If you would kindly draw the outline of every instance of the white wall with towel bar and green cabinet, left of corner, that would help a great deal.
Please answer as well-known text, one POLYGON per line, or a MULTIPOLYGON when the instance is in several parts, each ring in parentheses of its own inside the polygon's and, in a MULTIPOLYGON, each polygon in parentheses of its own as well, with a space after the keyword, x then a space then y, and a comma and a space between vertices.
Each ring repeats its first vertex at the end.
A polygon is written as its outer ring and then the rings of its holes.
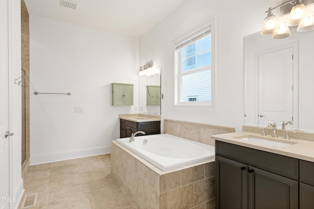
POLYGON ((138 106, 138 39, 29 18, 30 164, 109 153, 118 115, 138 106), (112 82, 134 84, 134 106, 111 105, 112 82))

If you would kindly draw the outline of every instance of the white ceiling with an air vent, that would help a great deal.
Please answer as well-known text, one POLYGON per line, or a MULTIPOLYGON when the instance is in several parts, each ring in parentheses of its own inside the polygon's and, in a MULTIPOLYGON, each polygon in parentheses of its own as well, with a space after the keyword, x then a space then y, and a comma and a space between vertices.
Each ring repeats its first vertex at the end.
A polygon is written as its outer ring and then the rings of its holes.
POLYGON ((75 0, 76 9, 60 0, 25 0, 28 13, 47 19, 141 37, 185 0, 75 0))

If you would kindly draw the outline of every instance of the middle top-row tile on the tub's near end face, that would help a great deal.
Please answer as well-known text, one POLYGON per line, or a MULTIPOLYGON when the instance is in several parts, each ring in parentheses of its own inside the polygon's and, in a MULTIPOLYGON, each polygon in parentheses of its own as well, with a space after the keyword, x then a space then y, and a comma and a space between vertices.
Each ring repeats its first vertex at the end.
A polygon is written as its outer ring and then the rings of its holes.
POLYGON ((193 183, 204 179, 204 164, 186 168, 181 171, 181 185, 193 183))

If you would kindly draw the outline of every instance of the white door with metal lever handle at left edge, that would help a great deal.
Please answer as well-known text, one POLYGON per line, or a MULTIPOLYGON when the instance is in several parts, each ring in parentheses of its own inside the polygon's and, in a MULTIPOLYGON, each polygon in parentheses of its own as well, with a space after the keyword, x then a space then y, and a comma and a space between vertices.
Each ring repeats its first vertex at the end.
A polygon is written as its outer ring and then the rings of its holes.
POLYGON ((0 1, 0 209, 9 208, 8 5, 0 1))

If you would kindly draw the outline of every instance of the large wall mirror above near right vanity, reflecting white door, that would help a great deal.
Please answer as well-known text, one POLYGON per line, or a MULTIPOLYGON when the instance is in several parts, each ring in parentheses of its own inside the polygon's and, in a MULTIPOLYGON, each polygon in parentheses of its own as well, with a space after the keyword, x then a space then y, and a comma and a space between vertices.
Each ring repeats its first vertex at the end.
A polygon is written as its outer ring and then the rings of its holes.
POLYGON ((244 37, 244 124, 314 132, 314 31, 244 37))

